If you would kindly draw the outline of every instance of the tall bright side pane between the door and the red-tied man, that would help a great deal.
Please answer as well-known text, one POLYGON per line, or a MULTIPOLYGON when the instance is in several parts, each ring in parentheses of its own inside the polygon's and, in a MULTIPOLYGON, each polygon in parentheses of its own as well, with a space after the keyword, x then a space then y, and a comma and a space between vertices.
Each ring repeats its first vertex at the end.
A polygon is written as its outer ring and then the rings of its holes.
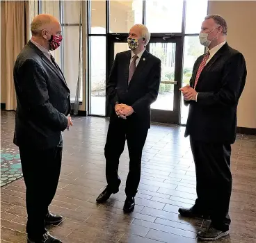
MULTIPOLYGON (((199 42, 198 36, 186 36, 184 39, 184 64, 183 64, 183 78, 182 87, 189 84, 192 76, 193 65, 198 56, 205 52, 205 47, 199 42)), ((186 119, 189 114, 189 106, 184 106, 182 100, 181 123, 186 124, 186 119)))

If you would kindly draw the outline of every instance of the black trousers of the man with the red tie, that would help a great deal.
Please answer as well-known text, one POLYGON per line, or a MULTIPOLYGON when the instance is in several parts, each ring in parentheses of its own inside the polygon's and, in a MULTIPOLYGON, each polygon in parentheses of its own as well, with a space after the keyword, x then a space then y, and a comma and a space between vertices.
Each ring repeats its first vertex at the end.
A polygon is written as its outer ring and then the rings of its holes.
POLYGON ((214 228, 227 231, 231 222, 228 215, 232 192, 231 145, 195 141, 193 137, 190 142, 198 194, 195 208, 209 213, 214 228))

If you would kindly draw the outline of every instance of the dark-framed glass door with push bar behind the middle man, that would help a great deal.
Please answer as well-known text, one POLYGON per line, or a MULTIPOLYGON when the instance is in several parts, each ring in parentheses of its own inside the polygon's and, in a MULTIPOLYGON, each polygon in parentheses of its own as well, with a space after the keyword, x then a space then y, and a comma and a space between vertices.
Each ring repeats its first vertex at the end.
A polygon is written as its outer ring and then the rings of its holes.
MULTIPOLYGON (((161 60, 161 84, 157 101, 151 105, 151 121, 179 124, 180 93, 182 85, 182 41, 181 37, 152 37, 147 51, 161 60)), ((108 61, 106 70, 111 70, 116 53, 127 51, 127 35, 115 34, 108 37, 108 61)), ((109 115, 106 103, 106 114, 109 115)))

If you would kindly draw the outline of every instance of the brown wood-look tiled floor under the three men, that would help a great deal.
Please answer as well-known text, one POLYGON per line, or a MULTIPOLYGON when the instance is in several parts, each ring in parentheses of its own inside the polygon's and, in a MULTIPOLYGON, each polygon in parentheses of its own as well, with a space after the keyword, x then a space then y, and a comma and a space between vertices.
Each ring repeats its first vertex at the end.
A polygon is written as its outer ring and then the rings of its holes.
MULTIPOLYGON (((13 129, 13 119, 10 118, 8 126, 13 129)), ((106 185, 107 128, 107 119, 78 117, 71 131, 65 132, 61 180, 51 211, 61 213, 66 219, 61 226, 50 228, 53 235, 72 243, 197 242, 196 231, 208 222, 184 219, 177 213, 179 206, 193 205, 196 197, 195 170, 184 128, 154 124, 150 129, 136 208, 130 215, 122 212, 129 162, 127 149, 120 160, 120 192, 106 205, 95 204, 106 185)), ((12 136, 12 129, 5 131, 12 136)), ((231 233, 218 242, 253 243, 256 242, 256 137, 239 135, 232 148, 231 233)), ((26 242, 24 192, 22 179, 1 188, 1 242, 26 242)))

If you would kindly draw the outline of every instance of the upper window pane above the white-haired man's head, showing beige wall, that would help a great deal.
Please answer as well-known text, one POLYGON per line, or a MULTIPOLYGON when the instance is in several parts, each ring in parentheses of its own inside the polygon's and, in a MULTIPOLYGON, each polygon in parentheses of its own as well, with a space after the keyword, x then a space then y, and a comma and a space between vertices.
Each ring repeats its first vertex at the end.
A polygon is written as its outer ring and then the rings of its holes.
POLYGON ((142 23, 143 1, 109 1, 109 32, 129 33, 131 26, 142 23))

